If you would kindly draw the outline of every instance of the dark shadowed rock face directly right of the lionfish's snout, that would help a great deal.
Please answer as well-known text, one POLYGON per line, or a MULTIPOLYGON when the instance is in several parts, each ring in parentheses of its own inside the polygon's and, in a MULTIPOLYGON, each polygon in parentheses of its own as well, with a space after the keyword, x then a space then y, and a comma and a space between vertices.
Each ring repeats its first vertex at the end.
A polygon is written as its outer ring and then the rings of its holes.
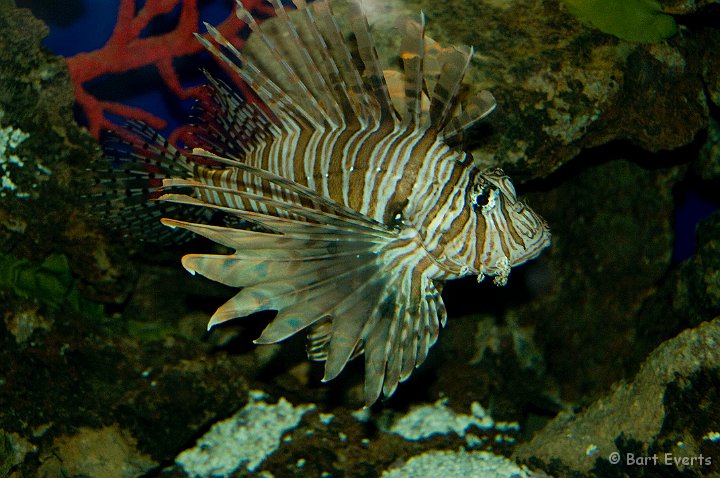
POLYGON ((563 399, 582 401, 637 370, 642 356, 627 351, 635 314, 670 267, 678 173, 615 160, 532 201, 552 224, 553 245, 537 262, 550 287, 514 314, 534 327, 563 399))

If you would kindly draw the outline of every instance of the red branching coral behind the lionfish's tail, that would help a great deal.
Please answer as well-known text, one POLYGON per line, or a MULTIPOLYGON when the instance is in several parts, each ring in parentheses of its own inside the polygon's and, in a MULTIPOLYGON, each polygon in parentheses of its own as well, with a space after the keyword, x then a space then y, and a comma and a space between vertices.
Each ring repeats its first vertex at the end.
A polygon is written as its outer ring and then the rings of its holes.
MULTIPOLYGON (((248 10, 270 13, 269 5, 263 0, 244 0, 243 3, 248 10)), ((141 108, 96 98, 86 89, 87 83, 95 78, 154 65, 165 86, 178 98, 201 96, 201 88, 182 86, 173 66, 174 59, 202 50, 202 46, 193 37, 193 33, 200 27, 198 0, 147 0, 137 13, 135 10, 135 0, 120 0, 117 23, 105 46, 91 52, 78 53, 67 59, 70 77, 75 85, 76 101, 87 117, 88 129, 96 138, 103 129, 117 129, 117 125, 106 113, 141 120, 157 129, 164 128, 166 122, 141 108), (178 6, 179 19, 172 31, 149 37, 141 36, 153 19, 171 13, 178 6)), ((234 10, 215 27, 240 48, 243 43, 240 31, 244 23, 235 16, 234 10)), ((239 81, 238 87, 244 89, 239 81)))

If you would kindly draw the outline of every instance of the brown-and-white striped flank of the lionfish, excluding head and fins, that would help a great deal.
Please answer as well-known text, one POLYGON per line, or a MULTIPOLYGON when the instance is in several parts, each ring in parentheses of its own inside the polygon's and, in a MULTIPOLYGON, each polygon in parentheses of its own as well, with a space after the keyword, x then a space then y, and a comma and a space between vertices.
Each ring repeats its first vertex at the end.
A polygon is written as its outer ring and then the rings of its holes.
MULTIPOLYGON (((461 164, 463 153, 433 136, 401 127, 307 129, 296 135, 278 134, 243 161, 306 186, 378 223, 399 223, 397 216, 402 215, 404 225, 425 230, 424 220, 436 216, 439 209, 427 198, 447 197, 450 188, 464 189, 461 183, 467 183, 472 173, 461 164)), ((209 184, 241 187, 256 194, 269 186, 254 184, 252 172, 234 168, 198 169, 195 176, 209 184)), ((257 210, 256 203, 237 202, 232 194, 207 199, 257 210)))

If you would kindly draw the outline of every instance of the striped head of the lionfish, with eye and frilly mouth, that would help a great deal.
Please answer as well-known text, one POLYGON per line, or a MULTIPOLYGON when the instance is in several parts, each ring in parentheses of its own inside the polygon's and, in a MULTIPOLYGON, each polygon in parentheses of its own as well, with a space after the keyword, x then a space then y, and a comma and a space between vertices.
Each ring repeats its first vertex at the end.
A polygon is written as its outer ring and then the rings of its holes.
POLYGON ((501 169, 479 172, 468 187, 469 207, 476 216, 478 280, 495 276, 504 285, 510 268, 536 258, 550 245, 543 218, 518 199, 510 178, 501 169))

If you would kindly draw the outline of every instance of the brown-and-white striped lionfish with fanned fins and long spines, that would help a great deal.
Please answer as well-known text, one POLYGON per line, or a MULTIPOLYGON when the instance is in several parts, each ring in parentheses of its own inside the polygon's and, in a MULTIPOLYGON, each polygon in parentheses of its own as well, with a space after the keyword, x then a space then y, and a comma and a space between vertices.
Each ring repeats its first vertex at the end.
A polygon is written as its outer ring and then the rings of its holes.
POLYGON ((307 331, 323 381, 364 354, 370 405, 425 360, 446 322, 445 281, 505 285, 550 233, 501 170, 480 171, 453 146, 496 105, 486 91, 459 104, 472 48, 440 47, 420 15, 400 25, 402 71, 383 71, 362 6, 346 6, 345 35, 326 0, 293 0, 294 10, 270 3, 276 16, 260 25, 237 1, 251 29, 242 51, 210 25, 210 40, 196 35, 262 104, 208 75, 202 147, 181 152, 131 123, 139 139, 111 154, 113 171, 99 183, 125 172, 127 197, 107 199, 108 209, 138 208, 129 199, 150 190, 160 204, 233 218, 161 220, 235 251, 182 258, 190 273, 241 288, 208 329, 275 310, 255 343, 307 331))

